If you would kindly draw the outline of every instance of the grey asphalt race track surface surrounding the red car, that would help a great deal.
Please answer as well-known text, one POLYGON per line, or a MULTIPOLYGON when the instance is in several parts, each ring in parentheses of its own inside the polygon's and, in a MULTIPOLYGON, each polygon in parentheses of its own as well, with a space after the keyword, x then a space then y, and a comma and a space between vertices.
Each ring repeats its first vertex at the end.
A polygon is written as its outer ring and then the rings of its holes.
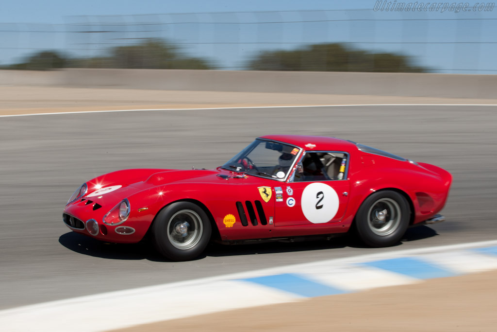
POLYGON ((0 309, 294 263, 496 239, 497 107, 364 106, 133 111, 0 118, 0 309), (264 134, 335 136, 432 163, 454 177, 447 221, 402 244, 211 245, 170 262, 147 243, 105 244, 62 222, 84 181, 125 168, 214 168, 264 134))

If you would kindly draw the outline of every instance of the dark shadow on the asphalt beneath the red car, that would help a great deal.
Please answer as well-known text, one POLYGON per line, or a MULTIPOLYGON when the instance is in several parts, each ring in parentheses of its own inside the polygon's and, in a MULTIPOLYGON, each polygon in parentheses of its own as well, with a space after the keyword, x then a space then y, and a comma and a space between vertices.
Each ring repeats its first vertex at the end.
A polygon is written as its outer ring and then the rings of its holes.
MULTIPOLYGON (((403 242, 415 241, 438 235, 435 230, 427 226, 409 228, 404 235, 403 242)), ((399 242, 397 245, 402 245, 399 242)), ((106 243, 93 238, 68 232, 59 237, 59 243, 75 252, 107 259, 140 260, 147 259, 156 262, 170 262, 161 256, 150 243, 143 241, 133 244, 106 243)), ((225 245, 211 243, 207 246, 204 254, 196 259, 239 255, 256 255, 267 253, 298 252, 325 250, 336 248, 368 248, 354 234, 331 238, 330 240, 308 240, 308 241, 278 241, 278 242, 253 242, 249 244, 225 245)))

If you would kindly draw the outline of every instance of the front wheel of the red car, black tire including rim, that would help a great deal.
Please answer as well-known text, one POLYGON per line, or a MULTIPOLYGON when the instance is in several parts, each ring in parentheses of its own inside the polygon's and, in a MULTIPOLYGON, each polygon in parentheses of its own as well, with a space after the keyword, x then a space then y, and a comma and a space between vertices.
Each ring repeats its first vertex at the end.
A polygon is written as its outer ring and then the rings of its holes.
POLYGON ((157 251, 174 261, 198 257, 209 243, 211 232, 211 223, 204 210, 190 202, 167 206, 152 225, 157 251))

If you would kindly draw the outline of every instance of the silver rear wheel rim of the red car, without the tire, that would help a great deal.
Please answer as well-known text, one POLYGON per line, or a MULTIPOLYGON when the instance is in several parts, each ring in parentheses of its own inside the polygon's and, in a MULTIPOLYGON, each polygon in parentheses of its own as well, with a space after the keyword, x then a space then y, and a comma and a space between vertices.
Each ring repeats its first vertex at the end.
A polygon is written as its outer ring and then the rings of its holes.
POLYGON ((399 227, 401 217, 401 208, 396 201, 381 198, 369 208, 368 226, 376 235, 390 235, 399 227))

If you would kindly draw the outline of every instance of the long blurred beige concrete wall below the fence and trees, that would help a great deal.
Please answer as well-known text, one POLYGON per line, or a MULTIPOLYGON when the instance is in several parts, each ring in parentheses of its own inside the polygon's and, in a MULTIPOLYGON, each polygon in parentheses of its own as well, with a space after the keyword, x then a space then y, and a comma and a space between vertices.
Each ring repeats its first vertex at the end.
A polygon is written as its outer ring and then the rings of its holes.
POLYGON ((310 93, 443 98, 497 98, 497 75, 66 69, 7 72, 11 84, 123 89, 310 93), (32 75, 32 76, 30 76, 32 75), (44 81, 40 77, 46 75, 44 81), (29 83, 29 80, 32 83, 29 83))

